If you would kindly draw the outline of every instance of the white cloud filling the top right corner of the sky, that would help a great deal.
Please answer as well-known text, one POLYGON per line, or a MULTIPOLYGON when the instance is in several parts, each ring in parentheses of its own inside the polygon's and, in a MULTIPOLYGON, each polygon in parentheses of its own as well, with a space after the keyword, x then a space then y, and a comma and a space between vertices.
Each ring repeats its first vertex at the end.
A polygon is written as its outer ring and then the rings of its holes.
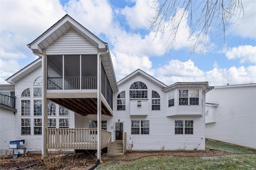
POLYGON ((236 23, 231 27, 231 34, 235 33, 241 37, 256 40, 256 2, 254 0, 242 0, 242 4, 244 18, 242 20, 234 20, 236 23))

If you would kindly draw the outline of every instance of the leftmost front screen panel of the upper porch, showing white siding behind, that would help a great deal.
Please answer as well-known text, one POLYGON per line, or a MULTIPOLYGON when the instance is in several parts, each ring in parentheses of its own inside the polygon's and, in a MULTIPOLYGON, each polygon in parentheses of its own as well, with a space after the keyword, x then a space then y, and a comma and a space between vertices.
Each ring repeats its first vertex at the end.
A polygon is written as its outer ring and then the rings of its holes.
POLYGON ((62 55, 47 55, 47 89, 63 89, 62 55))

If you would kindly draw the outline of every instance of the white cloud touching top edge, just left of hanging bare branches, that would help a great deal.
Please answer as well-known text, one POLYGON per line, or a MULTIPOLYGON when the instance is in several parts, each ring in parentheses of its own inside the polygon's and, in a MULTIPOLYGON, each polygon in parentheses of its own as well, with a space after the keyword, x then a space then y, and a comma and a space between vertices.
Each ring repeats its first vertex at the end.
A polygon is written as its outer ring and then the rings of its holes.
POLYGON ((148 28, 148 20, 154 16, 154 10, 151 9, 151 0, 137 0, 136 5, 126 6, 121 10, 121 14, 126 16, 126 20, 132 29, 148 28))

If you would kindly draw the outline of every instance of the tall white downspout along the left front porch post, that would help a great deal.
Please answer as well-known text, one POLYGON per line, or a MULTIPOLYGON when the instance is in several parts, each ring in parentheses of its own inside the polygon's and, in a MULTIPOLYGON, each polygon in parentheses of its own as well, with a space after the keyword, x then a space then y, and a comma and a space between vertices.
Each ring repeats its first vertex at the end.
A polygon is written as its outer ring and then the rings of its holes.
POLYGON ((42 155, 44 155, 44 154, 47 154, 47 152, 45 152, 45 140, 44 140, 44 138, 45 138, 45 136, 44 136, 44 134, 45 134, 45 124, 46 123, 44 123, 45 121, 47 122, 47 119, 45 120, 44 119, 44 104, 45 104, 45 102, 44 102, 44 97, 45 97, 45 93, 44 93, 44 74, 45 74, 45 70, 44 70, 44 60, 45 60, 45 58, 44 58, 44 55, 41 55, 41 54, 38 54, 38 53, 35 53, 34 51, 32 51, 33 52, 33 54, 34 55, 37 55, 38 57, 40 57, 41 59, 42 59, 42 155))

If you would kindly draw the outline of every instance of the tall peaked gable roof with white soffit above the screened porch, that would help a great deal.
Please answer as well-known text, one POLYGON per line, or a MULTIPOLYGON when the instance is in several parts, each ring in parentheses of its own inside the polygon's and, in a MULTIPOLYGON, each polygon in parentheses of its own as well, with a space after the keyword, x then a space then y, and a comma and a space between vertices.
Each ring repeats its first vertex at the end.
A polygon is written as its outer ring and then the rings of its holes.
POLYGON ((27 46, 35 53, 42 54, 42 49, 47 48, 52 43, 54 43, 58 38, 68 32, 70 29, 74 29, 78 34, 88 40, 90 43, 95 45, 101 51, 106 51, 106 43, 92 34, 89 30, 84 28, 76 20, 66 14, 48 30, 46 30, 42 35, 40 35, 36 40, 27 44, 27 46))

